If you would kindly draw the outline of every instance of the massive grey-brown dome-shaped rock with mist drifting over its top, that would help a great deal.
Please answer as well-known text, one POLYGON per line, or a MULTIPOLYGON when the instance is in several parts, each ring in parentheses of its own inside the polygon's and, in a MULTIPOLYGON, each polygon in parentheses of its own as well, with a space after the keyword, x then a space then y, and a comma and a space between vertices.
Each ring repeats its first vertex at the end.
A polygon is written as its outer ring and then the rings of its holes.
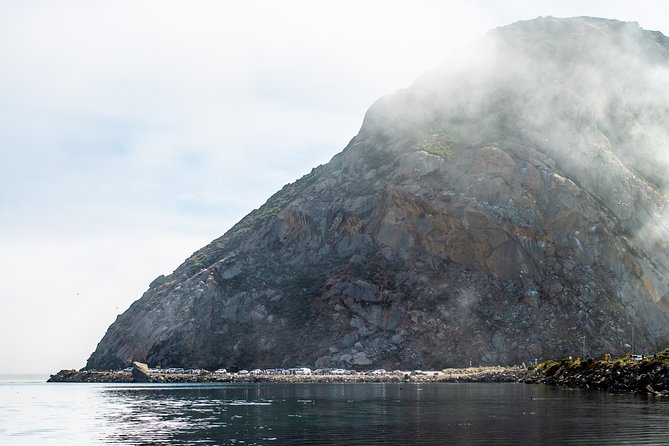
POLYGON ((432 368, 659 350, 669 40, 544 18, 379 100, 186 260, 87 367, 432 368))

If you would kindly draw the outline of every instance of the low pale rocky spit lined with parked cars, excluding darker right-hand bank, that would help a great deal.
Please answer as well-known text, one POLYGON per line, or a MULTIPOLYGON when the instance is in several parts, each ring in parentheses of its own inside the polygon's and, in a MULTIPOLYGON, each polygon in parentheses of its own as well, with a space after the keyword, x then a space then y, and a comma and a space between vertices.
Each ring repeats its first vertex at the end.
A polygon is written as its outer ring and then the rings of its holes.
POLYGON ((141 367, 132 371, 61 370, 51 383, 372 383, 372 382, 524 382, 528 371, 521 367, 470 367, 430 372, 402 372, 351 375, 270 375, 237 373, 165 374, 141 367))

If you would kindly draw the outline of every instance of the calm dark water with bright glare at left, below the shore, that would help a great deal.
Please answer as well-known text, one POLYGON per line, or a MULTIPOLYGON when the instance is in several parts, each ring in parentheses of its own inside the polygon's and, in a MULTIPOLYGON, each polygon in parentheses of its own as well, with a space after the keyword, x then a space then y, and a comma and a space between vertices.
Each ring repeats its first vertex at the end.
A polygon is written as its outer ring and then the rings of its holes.
POLYGON ((0 445, 669 444, 669 399, 526 384, 0 382, 0 445))

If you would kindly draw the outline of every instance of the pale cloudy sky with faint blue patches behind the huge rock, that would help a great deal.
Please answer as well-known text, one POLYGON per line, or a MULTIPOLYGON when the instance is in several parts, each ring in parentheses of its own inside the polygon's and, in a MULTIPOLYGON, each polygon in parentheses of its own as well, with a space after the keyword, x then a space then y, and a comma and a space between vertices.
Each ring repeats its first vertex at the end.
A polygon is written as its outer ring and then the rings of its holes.
POLYGON ((0 0, 0 373, 80 368, 158 275, 517 20, 665 1, 0 0))

